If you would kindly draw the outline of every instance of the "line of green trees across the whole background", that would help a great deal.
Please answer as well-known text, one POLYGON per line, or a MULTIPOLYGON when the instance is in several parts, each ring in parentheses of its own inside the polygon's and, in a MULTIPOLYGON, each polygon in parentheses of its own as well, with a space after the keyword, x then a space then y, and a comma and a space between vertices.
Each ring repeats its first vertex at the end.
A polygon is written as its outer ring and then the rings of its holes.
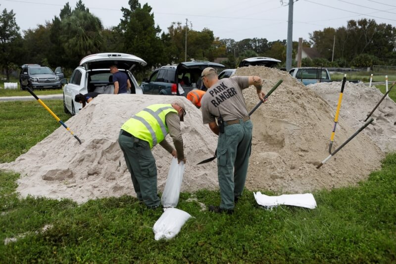
MULTIPOLYGON (((188 61, 213 61, 222 57, 221 63, 230 68, 252 56, 280 59, 281 67, 286 62, 286 40, 219 39, 208 28, 196 31, 181 22, 173 22, 165 32, 155 26, 154 13, 147 3, 142 6, 139 0, 129 0, 128 4, 127 8, 121 8, 120 23, 105 29, 82 0, 74 8, 67 2, 52 21, 24 31, 23 37, 13 10, 3 9, 0 14, 0 67, 9 79, 8 72, 24 63, 71 70, 86 55, 119 52, 146 60, 148 67, 137 69, 144 72, 185 61, 186 32, 188 61)), ((303 47, 316 48, 322 57, 303 59, 302 66, 396 65, 396 28, 390 24, 377 24, 371 19, 349 20, 346 27, 325 28, 309 36, 309 40, 303 40, 303 47)), ((298 43, 294 42, 293 58, 297 49, 298 43)), ((296 61, 293 64, 296 65, 296 61)))

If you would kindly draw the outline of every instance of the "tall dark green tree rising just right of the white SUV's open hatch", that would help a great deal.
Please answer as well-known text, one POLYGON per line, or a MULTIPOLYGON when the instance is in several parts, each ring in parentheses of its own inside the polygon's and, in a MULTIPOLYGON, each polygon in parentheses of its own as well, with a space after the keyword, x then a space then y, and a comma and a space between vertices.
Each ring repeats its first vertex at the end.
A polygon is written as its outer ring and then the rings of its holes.
POLYGON ((148 67, 161 64, 163 44, 159 38, 161 29, 155 26, 152 8, 146 3, 141 6, 138 0, 129 0, 129 9, 121 8, 123 18, 118 25, 122 34, 124 51, 146 60, 148 67))

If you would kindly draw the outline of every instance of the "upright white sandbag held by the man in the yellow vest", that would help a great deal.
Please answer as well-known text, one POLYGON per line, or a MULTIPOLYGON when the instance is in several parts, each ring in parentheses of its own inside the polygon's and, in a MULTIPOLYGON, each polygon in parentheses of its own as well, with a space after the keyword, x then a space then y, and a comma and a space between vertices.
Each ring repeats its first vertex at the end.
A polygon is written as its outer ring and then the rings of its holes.
POLYGON ((183 161, 178 163, 177 158, 172 158, 168 178, 166 178, 164 192, 161 197, 163 207, 176 207, 179 203, 179 195, 182 187, 185 166, 186 165, 183 161))

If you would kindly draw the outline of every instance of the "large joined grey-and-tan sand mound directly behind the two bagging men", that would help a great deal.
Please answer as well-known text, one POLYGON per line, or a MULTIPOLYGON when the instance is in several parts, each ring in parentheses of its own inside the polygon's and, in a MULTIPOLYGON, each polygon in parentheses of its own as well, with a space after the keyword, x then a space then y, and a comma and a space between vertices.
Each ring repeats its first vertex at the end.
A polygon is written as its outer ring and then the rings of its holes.
MULTIPOLYGON (((380 166, 383 153, 361 133, 320 169, 313 163, 326 158, 334 110, 311 89, 287 72, 261 66, 243 67, 238 75, 258 75, 269 91, 284 82, 251 116, 253 145, 247 177, 249 190, 278 193, 304 192, 356 184, 380 166)), ((254 88, 245 90, 247 108, 258 103, 254 88)), ((152 95, 101 95, 67 125, 82 145, 60 127, 15 161, 0 168, 21 173, 17 191, 22 196, 70 198, 77 202, 108 196, 135 195, 130 174, 118 146, 122 123, 143 107, 170 103, 174 97, 152 95), (121 165, 119 165, 121 163, 121 165)), ((182 98, 186 100, 185 98, 182 98)), ((182 191, 217 189, 216 161, 196 165, 212 157, 217 136, 202 125, 201 113, 185 101, 182 123, 187 157, 182 191)), ((49 117, 50 118, 50 117, 49 117)), ((335 148, 355 132, 340 118, 335 148)), ((169 137, 167 140, 170 141, 169 137)), ((158 189, 163 190, 171 156, 160 146, 153 148, 158 167, 158 189)))

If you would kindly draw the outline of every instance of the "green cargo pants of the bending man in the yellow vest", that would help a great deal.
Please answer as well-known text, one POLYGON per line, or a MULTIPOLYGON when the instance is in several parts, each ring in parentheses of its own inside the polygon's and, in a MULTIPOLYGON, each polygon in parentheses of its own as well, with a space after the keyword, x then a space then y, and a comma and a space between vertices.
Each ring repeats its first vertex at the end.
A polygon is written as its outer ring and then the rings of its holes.
POLYGON ((118 144, 124 153, 125 162, 131 173, 133 187, 139 201, 153 208, 159 206, 157 194, 157 166, 147 141, 120 132, 118 144))

